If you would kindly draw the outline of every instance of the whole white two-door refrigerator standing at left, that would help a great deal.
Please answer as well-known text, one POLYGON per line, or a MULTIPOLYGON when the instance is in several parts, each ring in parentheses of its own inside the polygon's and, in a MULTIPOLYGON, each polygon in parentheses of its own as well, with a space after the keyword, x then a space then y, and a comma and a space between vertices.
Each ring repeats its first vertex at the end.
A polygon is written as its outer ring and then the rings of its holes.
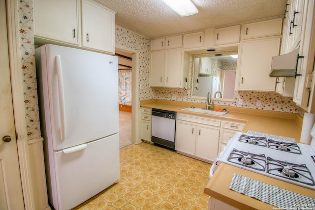
POLYGON ((49 202, 72 209, 119 180, 118 59, 35 50, 49 202))

